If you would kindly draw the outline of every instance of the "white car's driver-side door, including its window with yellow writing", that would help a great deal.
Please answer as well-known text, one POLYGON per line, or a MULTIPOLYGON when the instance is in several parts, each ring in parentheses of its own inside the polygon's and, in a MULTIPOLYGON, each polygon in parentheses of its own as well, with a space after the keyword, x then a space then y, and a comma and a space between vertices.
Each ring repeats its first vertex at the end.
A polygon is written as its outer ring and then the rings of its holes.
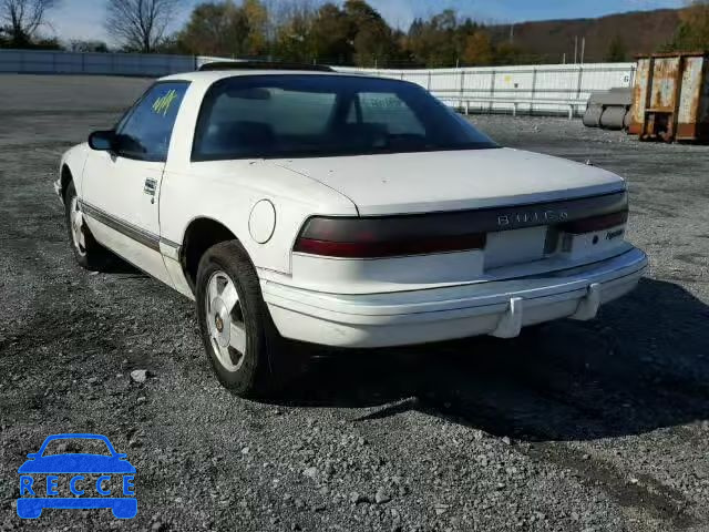
POLYGON ((95 238, 147 274, 171 284, 160 253, 160 187, 187 82, 158 82, 115 129, 109 151, 91 150, 80 191, 95 238))

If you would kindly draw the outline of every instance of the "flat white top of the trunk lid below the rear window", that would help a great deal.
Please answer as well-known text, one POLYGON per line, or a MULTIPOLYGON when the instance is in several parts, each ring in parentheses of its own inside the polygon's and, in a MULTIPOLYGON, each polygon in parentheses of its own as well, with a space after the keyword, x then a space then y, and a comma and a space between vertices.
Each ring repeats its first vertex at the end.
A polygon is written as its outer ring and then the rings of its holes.
POLYGON ((512 149, 274 163, 345 194, 362 216, 532 204, 624 188, 610 172, 512 149))

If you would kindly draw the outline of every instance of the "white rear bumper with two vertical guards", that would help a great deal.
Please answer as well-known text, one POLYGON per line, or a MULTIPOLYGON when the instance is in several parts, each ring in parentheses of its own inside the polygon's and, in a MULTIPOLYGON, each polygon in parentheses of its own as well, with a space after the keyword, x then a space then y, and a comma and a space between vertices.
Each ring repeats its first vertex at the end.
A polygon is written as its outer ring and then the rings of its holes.
POLYGON ((339 347, 424 344, 467 336, 517 336, 524 326, 572 317, 636 287, 647 267, 639 249, 590 265, 524 278, 417 291, 336 295, 261 282, 286 338, 339 347))

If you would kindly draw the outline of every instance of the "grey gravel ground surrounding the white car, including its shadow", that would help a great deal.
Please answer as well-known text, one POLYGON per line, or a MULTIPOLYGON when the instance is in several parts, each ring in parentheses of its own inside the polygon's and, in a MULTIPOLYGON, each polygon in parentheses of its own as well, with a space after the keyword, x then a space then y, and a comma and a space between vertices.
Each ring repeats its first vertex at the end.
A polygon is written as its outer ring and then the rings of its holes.
POLYGON ((145 83, 0 76, 0 530, 709 530, 708 147, 473 117, 626 176, 647 279, 533 338, 306 349, 319 358, 281 400, 248 402, 213 377, 192 303, 72 259, 59 156, 145 83), (18 519, 17 468, 58 432, 127 452, 134 520, 18 519))

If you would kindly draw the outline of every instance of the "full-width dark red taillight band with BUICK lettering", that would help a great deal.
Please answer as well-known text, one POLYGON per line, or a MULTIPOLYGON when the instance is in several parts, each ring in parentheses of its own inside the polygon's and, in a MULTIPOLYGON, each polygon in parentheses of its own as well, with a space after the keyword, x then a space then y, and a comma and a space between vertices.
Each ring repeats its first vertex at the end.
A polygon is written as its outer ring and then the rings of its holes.
POLYGON ((579 234, 626 223, 625 191, 520 206, 392 216, 314 216, 294 252, 326 257, 376 258, 483 249, 489 233, 554 226, 579 234))

